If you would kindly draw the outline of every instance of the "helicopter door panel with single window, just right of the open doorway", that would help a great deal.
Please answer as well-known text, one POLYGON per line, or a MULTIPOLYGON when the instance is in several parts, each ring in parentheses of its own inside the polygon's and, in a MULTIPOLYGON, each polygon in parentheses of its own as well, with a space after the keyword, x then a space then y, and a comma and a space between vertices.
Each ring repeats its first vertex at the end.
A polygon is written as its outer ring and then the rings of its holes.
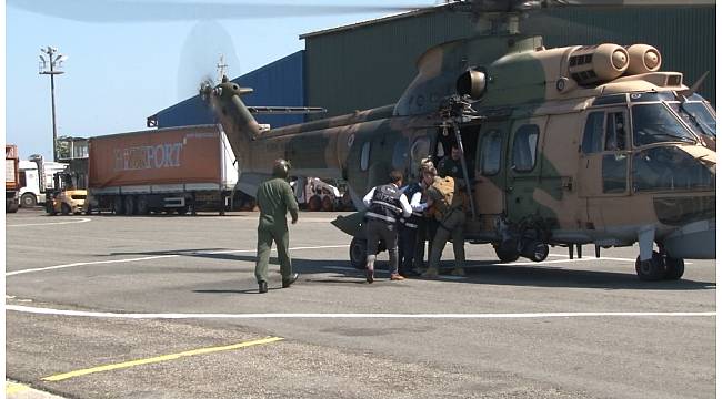
POLYGON ((541 171, 541 143, 548 116, 514 121, 507 145, 507 215, 520 223, 539 216, 541 205, 534 200, 541 171))

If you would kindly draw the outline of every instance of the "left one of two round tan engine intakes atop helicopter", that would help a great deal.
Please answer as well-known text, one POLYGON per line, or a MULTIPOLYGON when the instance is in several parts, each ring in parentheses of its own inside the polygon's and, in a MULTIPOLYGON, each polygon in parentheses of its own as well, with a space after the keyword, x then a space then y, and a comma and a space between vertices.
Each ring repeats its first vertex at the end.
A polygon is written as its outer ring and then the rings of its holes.
POLYGON ((582 47, 569 57, 569 73, 580 85, 612 81, 626 72, 630 54, 621 45, 582 47))

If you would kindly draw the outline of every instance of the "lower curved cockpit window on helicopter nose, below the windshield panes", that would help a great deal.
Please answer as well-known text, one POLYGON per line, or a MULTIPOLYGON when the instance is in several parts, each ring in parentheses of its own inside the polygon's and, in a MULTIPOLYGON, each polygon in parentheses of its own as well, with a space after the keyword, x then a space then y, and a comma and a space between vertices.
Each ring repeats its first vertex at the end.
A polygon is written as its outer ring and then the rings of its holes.
POLYGON ((645 191, 714 190, 709 167, 673 146, 658 146, 634 155, 633 187, 645 191))

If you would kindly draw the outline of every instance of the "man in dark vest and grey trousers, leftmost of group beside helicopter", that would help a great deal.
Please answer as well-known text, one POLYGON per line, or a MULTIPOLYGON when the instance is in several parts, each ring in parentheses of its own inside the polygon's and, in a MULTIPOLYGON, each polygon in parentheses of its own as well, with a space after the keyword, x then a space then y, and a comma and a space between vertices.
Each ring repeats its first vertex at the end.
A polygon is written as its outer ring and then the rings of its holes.
POLYGON ((367 282, 373 283, 373 264, 379 250, 379 241, 383 243, 389 250, 389 272, 392 280, 402 280, 403 276, 399 274, 398 259, 398 239, 399 239, 399 219, 403 215, 411 215, 411 206, 407 198, 401 195, 401 183, 403 174, 393 171, 389 175, 389 184, 383 184, 371 188, 363 197, 363 204, 367 206, 367 282))

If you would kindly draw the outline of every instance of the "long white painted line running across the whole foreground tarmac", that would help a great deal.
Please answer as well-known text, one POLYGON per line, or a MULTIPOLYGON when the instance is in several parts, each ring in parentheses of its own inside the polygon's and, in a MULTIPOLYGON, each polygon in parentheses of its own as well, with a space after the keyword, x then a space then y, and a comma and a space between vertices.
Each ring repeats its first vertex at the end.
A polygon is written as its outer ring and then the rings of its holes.
POLYGON ((353 319, 515 319, 559 317, 716 317, 716 311, 561 311, 518 314, 122 314, 108 311, 82 311, 6 305, 6 310, 52 316, 102 317, 123 319, 291 319, 291 318, 353 318, 353 319))

